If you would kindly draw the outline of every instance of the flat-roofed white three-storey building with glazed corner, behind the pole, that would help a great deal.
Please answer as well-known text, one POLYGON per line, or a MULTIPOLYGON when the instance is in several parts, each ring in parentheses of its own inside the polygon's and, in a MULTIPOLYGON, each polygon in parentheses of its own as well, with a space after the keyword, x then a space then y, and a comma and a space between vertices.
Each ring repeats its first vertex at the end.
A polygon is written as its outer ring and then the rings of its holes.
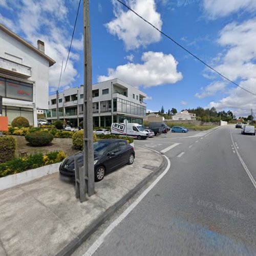
MULTIPOLYGON (((146 116, 146 94, 115 78, 93 84, 93 125, 110 126, 112 122, 142 124, 146 116)), ((77 126, 83 120, 83 86, 59 93, 59 118, 77 126)), ((56 120, 56 94, 49 96, 47 120, 56 120)))

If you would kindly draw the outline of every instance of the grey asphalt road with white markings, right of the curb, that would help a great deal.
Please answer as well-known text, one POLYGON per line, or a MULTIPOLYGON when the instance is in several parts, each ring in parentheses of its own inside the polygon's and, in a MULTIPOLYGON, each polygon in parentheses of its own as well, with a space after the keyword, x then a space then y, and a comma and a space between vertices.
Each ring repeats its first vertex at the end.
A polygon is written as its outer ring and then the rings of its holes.
POLYGON ((135 143, 163 152, 170 168, 74 255, 256 255, 256 136, 228 125, 135 143))

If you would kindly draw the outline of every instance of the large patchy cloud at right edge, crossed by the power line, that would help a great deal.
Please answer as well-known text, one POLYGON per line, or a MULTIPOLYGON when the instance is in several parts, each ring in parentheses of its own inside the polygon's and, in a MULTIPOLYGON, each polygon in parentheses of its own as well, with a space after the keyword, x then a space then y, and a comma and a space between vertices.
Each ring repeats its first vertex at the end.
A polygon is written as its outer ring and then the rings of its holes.
MULTIPOLYGON (((226 50, 219 55, 215 63, 215 69, 245 89, 256 93, 256 18, 246 20, 241 24, 230 23, 222 29, 218 44, 226 50)), ((226 81, 225 81, 226 83, 226 81)), ((210 102, 209 107, 215 106, 218 110, 233 109, 238 113, 248 112, 251 108, 256 109, 256 97, 248 92, 234 88, 229 83, 231 90, 225 89, 221 82, 207 86, 197 97, 214 95, 215 92, 224 92, 226 97, 219 101, 210 102)))

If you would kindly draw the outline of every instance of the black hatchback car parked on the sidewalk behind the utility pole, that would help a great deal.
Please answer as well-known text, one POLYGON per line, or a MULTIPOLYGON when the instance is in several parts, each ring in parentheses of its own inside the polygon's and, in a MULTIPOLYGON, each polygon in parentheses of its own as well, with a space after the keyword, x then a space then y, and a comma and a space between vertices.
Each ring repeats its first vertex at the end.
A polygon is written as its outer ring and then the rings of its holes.
MULTIPOLYGON (((134 148, 122 139, 104 139, 93 143, 95 181, 101 181, 105 174, 125 164, 133 164, 134 148)), ((75 179, 75 162, 83 165, 83 152, 67 157, 59 166, 60 177, 64 180, 75 179)))

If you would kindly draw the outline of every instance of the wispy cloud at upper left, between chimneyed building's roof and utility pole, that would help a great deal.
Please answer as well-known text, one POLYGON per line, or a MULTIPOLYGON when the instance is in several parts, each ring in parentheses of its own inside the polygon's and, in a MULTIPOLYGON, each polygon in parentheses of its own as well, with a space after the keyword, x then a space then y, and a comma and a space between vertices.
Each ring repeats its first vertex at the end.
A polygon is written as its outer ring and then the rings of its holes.
MULTIPOLYGON (((7 20, 5 25, 8 28, 13 30, 15 27, 16 32, 21 33, 24 39, 34 46, 37 39, 45 42, 46 54, 56 61, 49 71, 49 83, 53 88, 57 88, 61 63, 62 60, 64 65, 66 63, 73 29, 68 20, 65 0, 20 0, 12 1, 10 5, 13 9, 12 15, 15 17, 13 22, 10 23, 8 19, 1 16, 0 19, 5 18, 7 20)), ((66 71, 62 72, 61 87, 74 82, 78 75, 74 62, 79 59, 79 55, 74 51, 82 49, 82 36, 78 39, 74 38, 73 44, 66 71)))

